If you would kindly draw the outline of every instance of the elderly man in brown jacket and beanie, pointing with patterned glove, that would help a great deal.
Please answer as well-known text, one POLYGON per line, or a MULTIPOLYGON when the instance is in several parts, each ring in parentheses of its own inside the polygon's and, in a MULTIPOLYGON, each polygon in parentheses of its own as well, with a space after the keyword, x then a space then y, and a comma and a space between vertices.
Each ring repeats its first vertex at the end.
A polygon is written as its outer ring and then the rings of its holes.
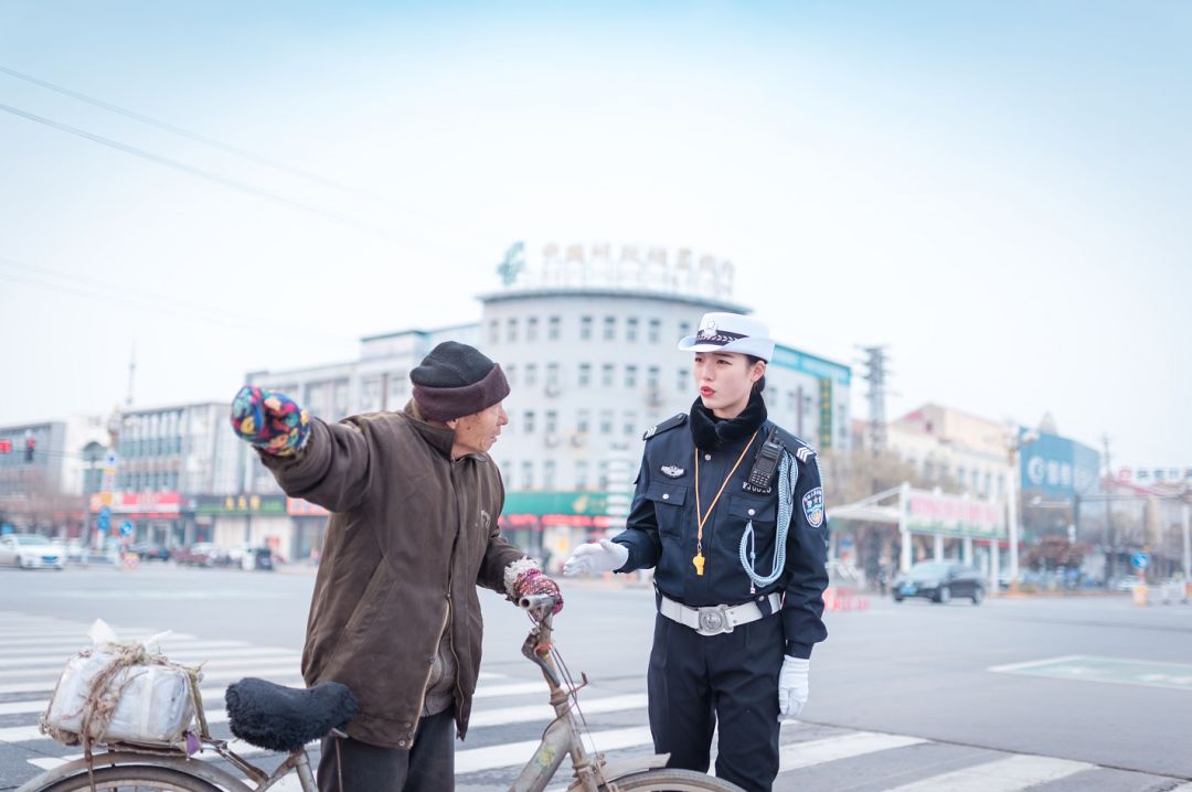
POLYGON ((559 595, 497 528, 504 487, 486 453, 509 423, 501 367, 448 341, 410 380, 402 412, 337 424, 255 387, 232 404, 237 435, 286 494, 331 512, 303 676, 347 685, 360 715, 348 738, 323 742, 324 792, 453 788, 480 666, 476 587, 559 595))

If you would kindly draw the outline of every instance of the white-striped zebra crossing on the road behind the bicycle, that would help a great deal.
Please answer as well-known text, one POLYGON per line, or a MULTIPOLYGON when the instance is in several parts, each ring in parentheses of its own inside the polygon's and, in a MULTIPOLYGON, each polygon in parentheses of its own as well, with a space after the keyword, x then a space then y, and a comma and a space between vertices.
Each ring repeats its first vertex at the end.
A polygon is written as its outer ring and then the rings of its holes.
MULTIPOLYGON (((86 646, 87 628, 81 623, 0 612, 0 790, 14 788, 39 772, 81 755, 77 747, 60 746, 42 735, 37 719, 66 660, 86 646)), ((122 640, 134 640, 149 637, 153 631, 117 628, 117 634, 122 640)), ((300 686, 300 651, 187 634, 167 637, 162 648, 173 660, 203 665, 200 693, 212 735, 230 740, 232 750, 254 763, 266 769, 275 767, 280 756, 231 738, 223 696, 226 685, 243 676, 300 686)), ((635 690, 626 690, 623 682, 602 687, 598 680, 583 690, 581 707, 590 749, 609 759, 653 753, 644 688, 641 679, 635 690)), ((552 717, 546 686, 529 663, 520 676, 483 672, 467 741, 457 744, 457 790, 508 788, 529 761, 552 717)), ((317 761, 317 746, 311 747, 311 754, 317 761)), ((210 755, 203 757, 217 760, 210 755)), ((783 723, 781 767, 775 784, 778 792, 1192 792, 1187 779, 799 721, 783 723)), ((551 788, 565 790, 569 777, 570 768, 564 767, 551 788)), ((298 790, 297 779, 286 779, 272 788, 298 790)))

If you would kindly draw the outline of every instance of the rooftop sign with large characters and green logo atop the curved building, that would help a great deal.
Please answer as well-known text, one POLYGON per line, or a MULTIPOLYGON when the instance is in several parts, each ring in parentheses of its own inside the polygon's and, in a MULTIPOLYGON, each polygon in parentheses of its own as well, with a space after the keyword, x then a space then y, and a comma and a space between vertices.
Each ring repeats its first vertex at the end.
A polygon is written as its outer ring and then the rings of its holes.
POLYGON ((527 260, 514 243, 497 266, 507 289, 611 288, 731 299, 732 262, 690 248, 550 242, 527 260))

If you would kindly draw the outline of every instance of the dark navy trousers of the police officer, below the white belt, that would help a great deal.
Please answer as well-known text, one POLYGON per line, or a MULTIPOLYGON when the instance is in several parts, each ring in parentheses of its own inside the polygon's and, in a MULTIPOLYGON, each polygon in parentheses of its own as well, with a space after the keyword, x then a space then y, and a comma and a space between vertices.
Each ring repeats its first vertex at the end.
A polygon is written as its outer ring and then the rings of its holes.
POLYGON ((662 613, 650 653, 650 730, 668 767, 708 771, 720 722, 716 777, 769 792, 778 774, 782 619, 769 616, 703 636, 662 613))

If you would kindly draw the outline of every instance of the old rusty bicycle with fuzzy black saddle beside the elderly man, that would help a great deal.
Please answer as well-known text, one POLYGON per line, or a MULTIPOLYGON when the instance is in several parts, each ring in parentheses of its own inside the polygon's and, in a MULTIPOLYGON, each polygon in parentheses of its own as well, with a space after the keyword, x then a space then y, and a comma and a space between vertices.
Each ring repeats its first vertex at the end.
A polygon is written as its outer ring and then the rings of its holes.
MULTIPOLYGON (((551 705, 555 718, 542 732, 534 755, 509 787, 509 792, 544 792, 546 785, 570 756, 575 780, 569 792, 741 792, 740 787, 703 773, 664 767, 669 755, 654 754, 609 762, 603 754, 589 754, 583 743, 583 718, 578 692, 588 685, 588 675, 581 674, 582 684, 564 681, 559 675, 561 659, 553 648, 552 616, 557 600, 550 595, 523 597, 519 605, 534 623, 522 643, 522 655, 542 672, 551 693, 551 705), (581 713, 577 717, 577 713, 581 713)), ((564 669, 566 666, 563 666, 564 669)), ((346 736, 339 728, 310 726, 325 721, 325 713, 342 701, 337 699, 316 700, 310 691, 272 685, 279 701, 286 706, 271 710, 271 718, 279 721, 278 729, 292 730, 298 725, 309 728, 300 734, 300 744, 272 773, 252 765, 228 747, 226 741, 204 737, 201 744, 212 749, 232 767, 248 778, 248 784, 232 773, 206 761, 191 759, 181 749, 154 749, 144 746, 112 744, 88 760, 80 759, 46 771, 31 779, 17 792, 123 792, 145 790, 149 792, 263 792, 278 784, 291 772, 297 773, 303 792, 317 792, 305 744, 329 735, 346 736), (294 707, 294 701, 302 706, 294 707), (288 713, 286 712, 288 710, 288 713), (296 719, 294 712, 299 713, 296 719), (284 722, 284 723, 283 723, 284 722), (255 784, 256 786, 250 786, 255 784)), ((340 686, 342 687, 342 686, 340 686)), ((312 688, 313 690, 313 688, 312 688)), ((352 693, 342 687, 343 694, 352 693)), ((229 709, 235 725, 237 712, 229 709)), ((339 724, 342 726, 344 724, 339 724)), ((234 729, 235 732, 235 729, 234 729)), ((260 748, 271 748, 269 740, 238 735, 241 740, 260 748), (266 744, 262 744, 266 743, 266 744)))

